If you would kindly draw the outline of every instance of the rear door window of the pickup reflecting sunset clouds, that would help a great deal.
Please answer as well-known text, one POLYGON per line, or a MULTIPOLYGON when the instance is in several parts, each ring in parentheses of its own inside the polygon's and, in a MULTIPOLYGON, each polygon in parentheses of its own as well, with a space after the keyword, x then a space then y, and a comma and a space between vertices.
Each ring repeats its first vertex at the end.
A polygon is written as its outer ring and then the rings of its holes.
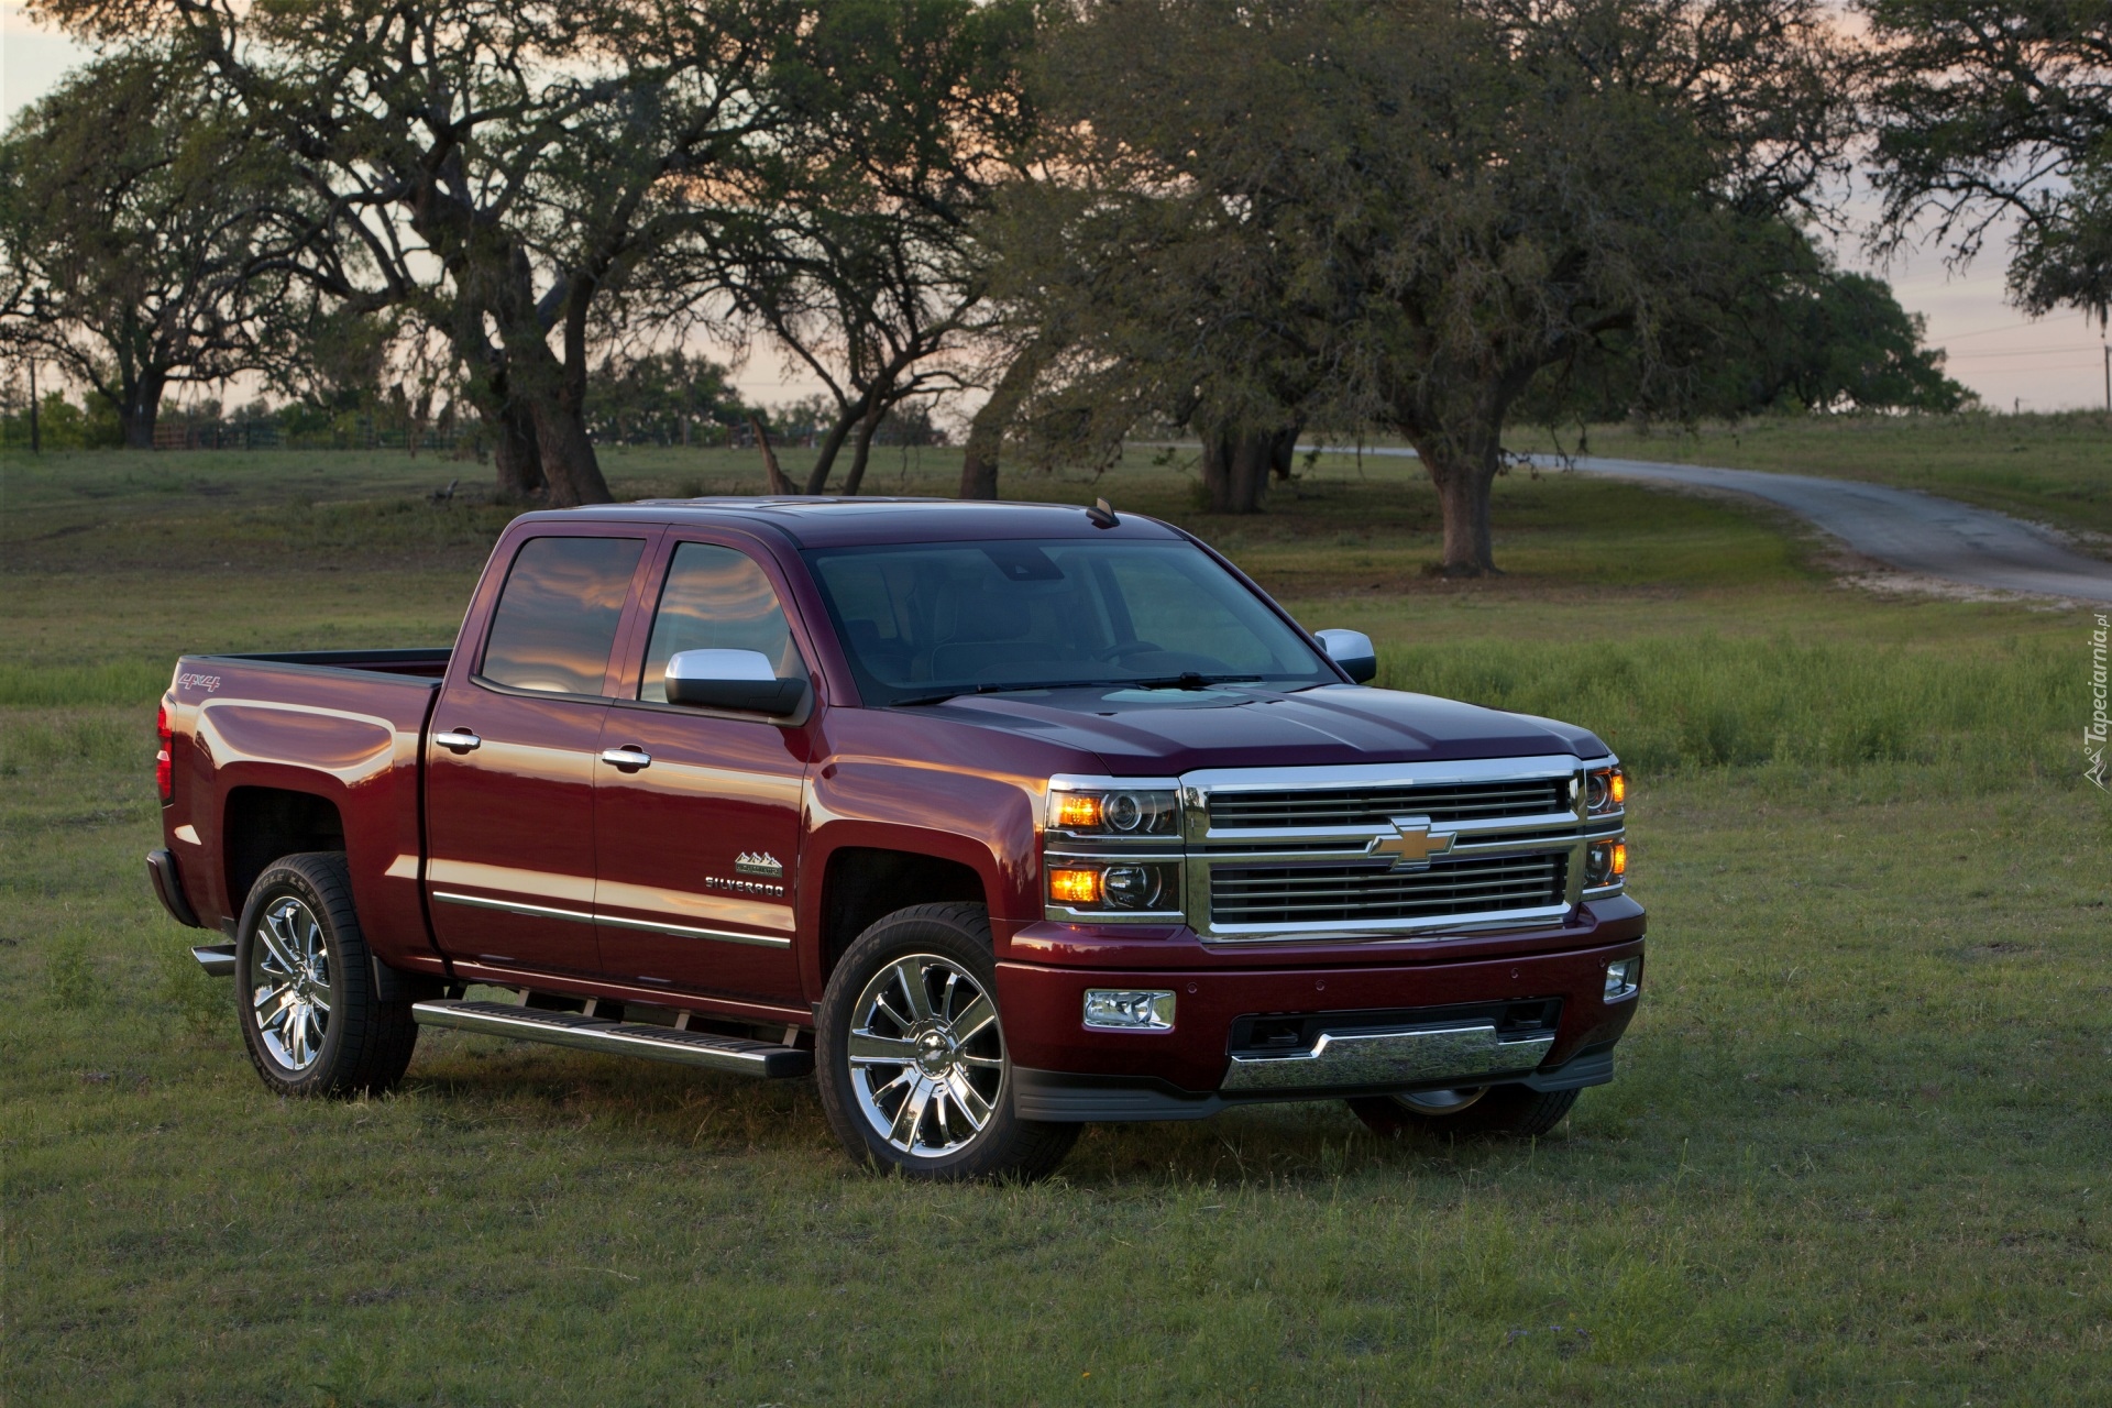
POLYGON ((477 673, 520 690, 600 695, 644 547, 644 538, 522 543, 477 673))

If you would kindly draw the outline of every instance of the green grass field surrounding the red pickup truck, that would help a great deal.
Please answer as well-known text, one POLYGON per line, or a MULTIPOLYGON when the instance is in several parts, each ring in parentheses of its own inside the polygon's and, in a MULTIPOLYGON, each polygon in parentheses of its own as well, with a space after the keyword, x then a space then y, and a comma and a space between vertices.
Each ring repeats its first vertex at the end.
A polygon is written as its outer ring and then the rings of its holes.
POLYGON ((1780 519, 1569 475, 1500 483, 1481 585, 1423 574, 1413 464, 1326 458, 1244 521, 1178 467, 1016 481, 1195 526, 1373 631, 1388 684, 1599 728, 1637 770, 1649 986, 1620 1079, 1531 1146, 1280 1106, 931 1191, 855 1172, 807 1083, 458 1032, 386 1100, 251 1074, 139 874, 150 701, 184 648, 450 640, 505 521, 425 502, 458 473, 0 471, 6 1402, 2112 1397, 2087 616, 1861 595, 1780 519))

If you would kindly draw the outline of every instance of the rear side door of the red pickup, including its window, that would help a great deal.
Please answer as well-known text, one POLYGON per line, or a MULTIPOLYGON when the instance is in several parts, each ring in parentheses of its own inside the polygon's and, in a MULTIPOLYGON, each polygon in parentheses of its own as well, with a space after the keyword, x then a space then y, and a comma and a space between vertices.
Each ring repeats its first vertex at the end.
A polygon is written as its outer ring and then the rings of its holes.
POLYGON ((659 530, 524 538, 463 642, 427 743, 427 897, 441 952, 598 973, 593 781, 625 606, 659 530))

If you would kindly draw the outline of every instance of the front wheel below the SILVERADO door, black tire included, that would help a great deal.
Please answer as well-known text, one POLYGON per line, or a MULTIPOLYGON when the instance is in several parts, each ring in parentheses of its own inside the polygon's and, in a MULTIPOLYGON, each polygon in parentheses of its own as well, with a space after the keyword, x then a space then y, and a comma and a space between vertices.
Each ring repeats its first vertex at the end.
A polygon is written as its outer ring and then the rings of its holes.
POLYGON ((1012 1108, 1012 1055, 1003 1045, 997 958, 991 952, 991 918, 982 906, 921 903, 895 910, 857 935, 822 994, 815 1070, 828 1125, 851 1157, 900 1169, 906 1178, 1024 1182, 1050 1174, 1077 1142, 1077 1125, 1020 1119, 1012 1108), (893 986, 906 984, 910 969, 925 986, 929 1020, 893 1022, 887 1011, 917 1015, 906 986, 893 986), (967 1003, 955 1001, 969 984, 980 994, 967 1003), (980 998, 988 998, 988 1017, 974 1009, 980 998), (887 1005, 876 1007, 879 1003, 887 1005), (860 1028, 862 1007, 872 1011, 860 1028), (953 1015, 963 1022, 955 1026, 953 1015), (953 1041, 957 1030, 976 1022, 980 1026, 965 1039, 953 1041), (853 1036, 866 1047, 855 1070, 853 1036), (902 1043, 902 1051, 927 1053, 934 1066, 923 1066, 923 1055, 904 1062, 872 1060, 876 1043, 902 1043), (955 1085, 957 1079, 974 1085, 963 1089, 955 1085), (912 1110, 910 1102, 919 1091, 923 1100, 912 1110), (895 1093, 900 1100, 889 1104, 895 1093), (942 1146, 938 1140, 953 1138, 948 1104, 963 1127, 974 1127, 976 1106, 984 1115, 974 1134, 942 1146), (900 1144, 889 1138, 891 1129, 881 1127, 889 1117, 893 1129, 906 1129, 900 1144))

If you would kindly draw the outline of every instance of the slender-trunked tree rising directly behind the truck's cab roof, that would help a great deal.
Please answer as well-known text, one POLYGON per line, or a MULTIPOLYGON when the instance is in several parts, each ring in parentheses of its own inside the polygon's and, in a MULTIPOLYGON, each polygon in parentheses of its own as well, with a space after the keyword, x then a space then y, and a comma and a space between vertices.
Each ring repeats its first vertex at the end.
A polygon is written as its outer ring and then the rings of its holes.
POLYGON ((836 0, 775 74, 786 125, 743 215, 686 241, 670 300, 733 310, 834 401, 807 477, 906 401, 961 386, 950 365, 984 300, 974 220, 1033 125, 1018 84, 1033 13, 1018 0, 836 0))

